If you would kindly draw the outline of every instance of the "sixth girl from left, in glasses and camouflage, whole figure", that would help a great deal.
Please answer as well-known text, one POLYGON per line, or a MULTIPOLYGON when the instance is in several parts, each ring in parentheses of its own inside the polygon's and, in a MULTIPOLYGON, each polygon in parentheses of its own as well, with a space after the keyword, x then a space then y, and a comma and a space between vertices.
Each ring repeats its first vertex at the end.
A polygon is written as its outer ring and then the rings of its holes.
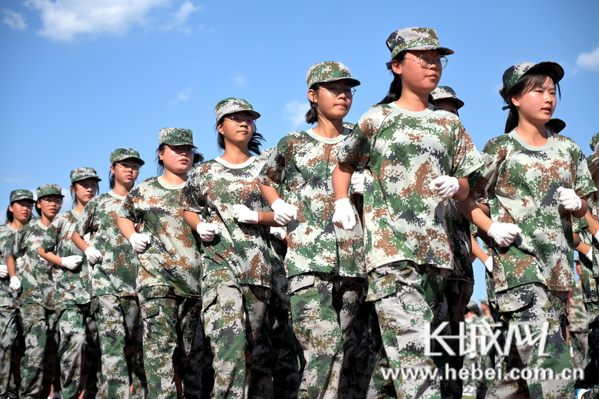
POLYGON ((263 324, 268 327, 267 226, 278 226, 259 191, 260 114, 240 98, 223 99, 214 113, 224 153, 193 171, 179 200, 185 221, 202 238, 202 319, 214 356, 213 395, 241 398, 246 383, 250 396, 272 395, 271 364, 256 364, 252 355, 263 324))

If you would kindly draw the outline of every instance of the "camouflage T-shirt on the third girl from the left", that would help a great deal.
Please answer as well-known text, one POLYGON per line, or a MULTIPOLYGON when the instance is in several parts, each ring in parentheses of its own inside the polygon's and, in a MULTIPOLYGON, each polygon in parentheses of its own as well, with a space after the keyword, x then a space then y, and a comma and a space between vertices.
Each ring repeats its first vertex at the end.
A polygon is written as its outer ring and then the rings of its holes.
POLYGON ((83 261, 75 270, 68 270, 66 267, 54 265, 52 269, 52 280, 54 283, 54 301, 56 309, 60 310, 68 304, 89 303, 89 264, 83 251, 78 249, 71 236, 75 231, 75 225, 81 220, 74 210, 58 214, 44 235, 41 247, 45 250, 56 250, 56 255, 60 258, 66 256, 79 255, 83 261))

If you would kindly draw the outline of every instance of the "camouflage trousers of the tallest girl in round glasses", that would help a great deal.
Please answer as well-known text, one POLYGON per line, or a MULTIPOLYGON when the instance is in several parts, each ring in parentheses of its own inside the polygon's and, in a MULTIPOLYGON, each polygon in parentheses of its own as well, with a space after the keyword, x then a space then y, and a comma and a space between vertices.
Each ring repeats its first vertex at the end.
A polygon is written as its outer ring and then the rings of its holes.
MULTIPOLYGON (((411 261, 393 262, 368 273, 368 301, 374 301, 382 346, 368 398, 392 395, 398 398, 441 398, 439 376, 392 377, 395 392, 388 391, 383 373, 401 370, 438 372, 445 358, 425 355, 425 336, 431 333, 437 313, 446 306, 444 283, 447 270, 417 265, 411 261)), ((443 312, 441 310, 441 312, 443 312)), ((446 311, 445 311, 446 312, 446 311)), ((431 345, 431 350, 435 347, 431 345)))

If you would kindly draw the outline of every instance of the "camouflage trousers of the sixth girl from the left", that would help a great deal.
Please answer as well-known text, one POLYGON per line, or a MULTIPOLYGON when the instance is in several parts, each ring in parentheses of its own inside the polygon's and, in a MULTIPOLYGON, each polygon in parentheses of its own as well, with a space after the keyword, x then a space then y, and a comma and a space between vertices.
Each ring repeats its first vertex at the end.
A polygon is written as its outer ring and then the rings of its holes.
POLYGON ((240 285, 228 269, 204 276, 202 321, 213 355, 215 398, 268 395, 261 385, 264 379, 252 379, 250 373, 269 294, 269 288, 240 285))

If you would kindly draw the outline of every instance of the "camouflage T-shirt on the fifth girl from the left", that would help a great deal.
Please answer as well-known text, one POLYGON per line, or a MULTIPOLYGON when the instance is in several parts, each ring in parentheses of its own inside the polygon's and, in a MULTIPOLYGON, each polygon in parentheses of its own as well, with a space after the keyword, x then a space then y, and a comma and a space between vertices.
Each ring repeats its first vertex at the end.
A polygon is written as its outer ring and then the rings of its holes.
POLYGON ((168 186, 162 177, 151 177, 135 186, 119 211, 140 232, 152 238, 138 253, 137 291, 151 286, 170 286, 174 294, 186 298, 201 295, 202 270, 195 231, 183 220, 179 195, 185 184, 168 186))

